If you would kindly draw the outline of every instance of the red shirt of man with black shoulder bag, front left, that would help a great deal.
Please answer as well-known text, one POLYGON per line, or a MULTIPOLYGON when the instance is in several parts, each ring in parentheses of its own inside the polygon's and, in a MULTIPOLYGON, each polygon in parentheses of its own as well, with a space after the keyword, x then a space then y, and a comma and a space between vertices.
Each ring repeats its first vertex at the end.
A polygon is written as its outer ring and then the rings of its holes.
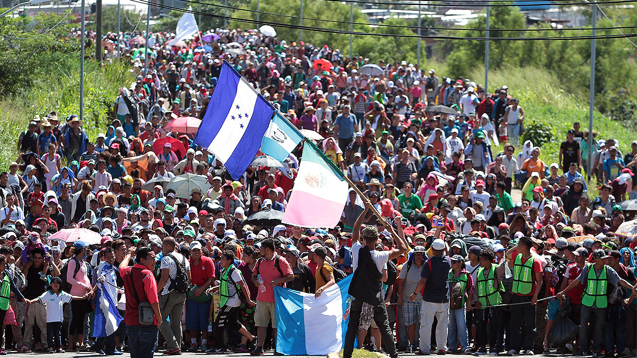
MULTIPOLYGON (((158 303, 157 281, 155 281, 153 273, 141 264, 120 268, 120 275, 122 280, 124 280, 124 292, 126 295, 124 323, 129 326, 140 326, 139 303, 136 301, 133 292, 137 292, 142 302, 158 303), (134 271, 132 270, 133 268, 135 269, 134 271)), ((157 317, 155 317, 153 324, 157 324, 157 317)))

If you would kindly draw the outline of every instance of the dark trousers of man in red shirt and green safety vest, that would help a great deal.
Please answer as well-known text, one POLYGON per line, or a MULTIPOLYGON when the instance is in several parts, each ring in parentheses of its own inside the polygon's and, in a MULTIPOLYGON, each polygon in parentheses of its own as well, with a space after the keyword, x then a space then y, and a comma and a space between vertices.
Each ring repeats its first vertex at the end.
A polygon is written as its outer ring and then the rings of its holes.
POLYGON ((535 327, 535 306, 531 304, 533 296, 519 296, 514 294, 511 303, 525 303, 514 306, 511 309, 511 319, 509 320, 510 337, 509 347, 516 352, 520 351, 520 348, 524 350, 533 350, 533 344, 535 343, 535 334, 537 333, 535 327), (524 337, 522 337, 522 318, 524 318, 524 337))

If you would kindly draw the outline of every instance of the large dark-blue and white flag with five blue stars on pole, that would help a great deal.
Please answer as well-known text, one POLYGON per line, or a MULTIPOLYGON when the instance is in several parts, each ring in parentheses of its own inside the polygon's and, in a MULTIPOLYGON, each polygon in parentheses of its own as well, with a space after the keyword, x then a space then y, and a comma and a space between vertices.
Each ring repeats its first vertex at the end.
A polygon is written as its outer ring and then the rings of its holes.
POLYGON ((224 61, 194 143, 224 163, 236 180, 259 152, 273 106, 224 61))

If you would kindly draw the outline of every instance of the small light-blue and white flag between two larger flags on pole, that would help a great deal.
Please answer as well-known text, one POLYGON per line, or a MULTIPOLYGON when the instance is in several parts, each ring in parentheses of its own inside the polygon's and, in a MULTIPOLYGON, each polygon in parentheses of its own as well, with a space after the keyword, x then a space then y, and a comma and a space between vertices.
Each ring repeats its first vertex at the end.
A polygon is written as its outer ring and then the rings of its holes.
POLYGON ((301 143, 301 140, 303 140, 303 134, 283 118, 279 111, 276 111, 268 131, 261 140, 261 152, 282 162, 301 143))

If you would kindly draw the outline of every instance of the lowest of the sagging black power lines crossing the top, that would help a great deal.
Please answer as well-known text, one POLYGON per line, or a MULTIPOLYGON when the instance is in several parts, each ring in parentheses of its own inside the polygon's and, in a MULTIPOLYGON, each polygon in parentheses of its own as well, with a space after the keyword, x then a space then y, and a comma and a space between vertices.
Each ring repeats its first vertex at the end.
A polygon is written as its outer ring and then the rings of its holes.
MULTIPOLYGON (((140 3, 140 4, 148 4, 147 0, 132 0, 135 3, 140 3)), ((168 10, 175 10, 175 11, 179 11, 182 13, 192 13, 194 15, 203 15, 203 16, 207 16, 207 17, 215 17, 215 18, 222 18, 225 20, 234 20, 237 22, 246 22, 248 24, 256 24, 257 21, 256 20, 252 20, 250 18, 236 18, 236 17, 226 17, 223 15, 215 15, 215 14, 211 14, 211 13, 203 13, 203 12, 199 12, 199 11, 194 11, 194 10, 185 10, 182 8, 175 8, 173 6, 168 6, 165 4, 155 4, 155 3, 151 3, 152 6, 157 6, 159 8, 164 8, 164 9, 168 9, 168 10)), ((407 34, 387 34, 387 33, 376 33, 376 32, 359 32, 359 31, 347 31, 347 30, 340 30, 340 29, 327 29, 325 27, 311 27, 311 26, 302 26, 302 25, 292 25, 292 24, 282 24, 280 22, 273 22, 273 21, 267 21, 267 20, 260 20, 259 24, 268 24, 268 25, 273 25, 273 26, 277 26, 277 27, 285 27, 288 29, 304 29, 307 31, 318 31, 318 32, 330 32, 330 33, 337 33, 337 34, 352 34, 352 35, 359 35, 359 36, 389 36, 389 37, 394 37, 394 38, 430 38, 430 39, 458 39, 458 40, 473 40, 473 41, 487 41, 487 40, 493 40, 493 41, 536 41, 536 40, 555 40, 555 41, 560 41, 560 40, 571 40, 571 39, 614 39, 614 38, 629 38, 629 37, 637 37, 637 34, 624 34, 624 35, 597 35, 597 36, 590 36, 590 35, 585 35, 585 36, 554 36, 554 37, 538 37, 538 38, 485 38, 485 37, 460 37, 460 36, 439 36, 439 35, 423 35, 423 36, 418 36, 418 35, 407 35, 407 34)))

